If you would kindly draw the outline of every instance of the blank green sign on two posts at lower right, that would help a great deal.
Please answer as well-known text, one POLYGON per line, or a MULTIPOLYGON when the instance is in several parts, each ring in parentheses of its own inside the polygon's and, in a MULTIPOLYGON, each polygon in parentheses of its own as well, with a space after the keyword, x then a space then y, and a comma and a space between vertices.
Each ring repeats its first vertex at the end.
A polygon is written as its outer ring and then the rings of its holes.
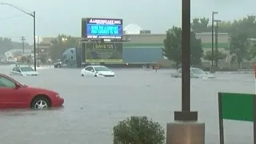
POLYGON ((256 94, 218 93, 219 140, 224 144, 223 119, 254 122, 256 144, 256 94))

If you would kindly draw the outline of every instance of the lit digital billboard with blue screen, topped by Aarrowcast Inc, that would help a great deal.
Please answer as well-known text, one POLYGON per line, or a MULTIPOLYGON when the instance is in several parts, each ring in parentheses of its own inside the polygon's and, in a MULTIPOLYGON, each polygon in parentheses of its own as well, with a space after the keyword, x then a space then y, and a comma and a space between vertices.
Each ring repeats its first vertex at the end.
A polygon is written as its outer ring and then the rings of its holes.
POLYGON ((122 19, 85 18, 82 26, 84 38, 122 39, 122 19))

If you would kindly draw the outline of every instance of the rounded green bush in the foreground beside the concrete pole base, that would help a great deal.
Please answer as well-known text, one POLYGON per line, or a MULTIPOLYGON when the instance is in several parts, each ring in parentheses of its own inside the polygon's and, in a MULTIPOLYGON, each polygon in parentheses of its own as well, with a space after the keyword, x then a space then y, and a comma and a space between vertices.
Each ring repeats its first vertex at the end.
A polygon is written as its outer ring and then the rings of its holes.
POLYGON ((114 126, 114 144, 164 144, 165 132, 158 122, 132 116, 114 126))

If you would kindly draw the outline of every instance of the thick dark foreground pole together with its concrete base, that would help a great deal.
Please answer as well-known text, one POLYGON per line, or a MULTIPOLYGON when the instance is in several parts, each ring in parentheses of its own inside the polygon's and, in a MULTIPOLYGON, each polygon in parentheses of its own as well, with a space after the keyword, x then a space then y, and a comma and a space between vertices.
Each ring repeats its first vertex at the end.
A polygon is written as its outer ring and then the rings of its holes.
POLYGON ((175 122, 167 123, 166 144, 205 143, 205 124, 190 110, 190 34, 190 0, 182 0, 182 111, 174 111, 175 122))

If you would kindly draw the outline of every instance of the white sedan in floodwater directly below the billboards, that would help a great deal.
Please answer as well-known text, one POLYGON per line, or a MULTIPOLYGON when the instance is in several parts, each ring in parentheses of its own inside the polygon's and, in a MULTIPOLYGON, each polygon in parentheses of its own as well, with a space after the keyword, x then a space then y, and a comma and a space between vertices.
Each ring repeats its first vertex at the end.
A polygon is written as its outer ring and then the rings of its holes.
POLYGON ((114 77, 115 74, 106 66, 86 66, 81 70, 82 77, 114 77))

